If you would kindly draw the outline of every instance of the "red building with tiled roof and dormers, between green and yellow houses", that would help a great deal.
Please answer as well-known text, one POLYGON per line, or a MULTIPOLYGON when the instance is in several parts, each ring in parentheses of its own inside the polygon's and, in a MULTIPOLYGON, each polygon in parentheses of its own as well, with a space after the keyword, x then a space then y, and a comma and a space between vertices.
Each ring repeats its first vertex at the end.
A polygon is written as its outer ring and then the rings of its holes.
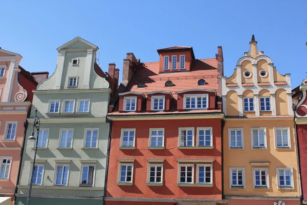
POLYGON ((127 53, 111 106, 105 201, 111 204, 225 204, 218 79, 223 53, 195 59, 191 47, 159 49, 160 61, 127 53))

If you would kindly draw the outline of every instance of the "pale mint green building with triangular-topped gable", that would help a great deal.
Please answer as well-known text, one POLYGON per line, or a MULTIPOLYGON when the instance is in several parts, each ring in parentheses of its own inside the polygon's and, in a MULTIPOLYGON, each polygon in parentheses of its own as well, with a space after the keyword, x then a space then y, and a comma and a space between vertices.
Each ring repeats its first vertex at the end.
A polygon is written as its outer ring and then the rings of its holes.
MULTIPOLYGON (((27 136, 40 118, 31 204, 102 204, 112 94, 98 47, 76 37, 59 47, 54 74, 34 92, 27 136)), ((114 75, 113 75, 114 76, 114 75)), ((27 203, 35 142, 25 139, 16 204, 27 203)))

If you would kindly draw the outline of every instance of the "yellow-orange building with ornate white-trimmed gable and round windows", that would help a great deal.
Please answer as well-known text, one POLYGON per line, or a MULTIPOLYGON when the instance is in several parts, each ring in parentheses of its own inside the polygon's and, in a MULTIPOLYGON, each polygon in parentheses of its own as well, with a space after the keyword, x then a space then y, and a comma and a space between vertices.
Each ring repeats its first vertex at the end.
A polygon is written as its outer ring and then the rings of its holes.
POLYGON ((290 74, 277 72, 254 36, 222 78, 222 98, 229 204, 300 204, 290 74))

